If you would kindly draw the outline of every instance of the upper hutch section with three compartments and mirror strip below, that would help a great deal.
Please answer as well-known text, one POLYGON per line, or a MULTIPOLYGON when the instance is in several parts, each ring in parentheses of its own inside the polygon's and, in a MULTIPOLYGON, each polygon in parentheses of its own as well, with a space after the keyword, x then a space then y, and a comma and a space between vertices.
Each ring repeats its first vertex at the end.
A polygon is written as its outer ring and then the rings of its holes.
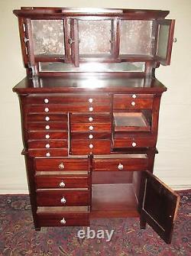
POLYGON ((169 11, 21 8, 21 49, 28 75, 139 73, 170 64, 174 20, 169 11))

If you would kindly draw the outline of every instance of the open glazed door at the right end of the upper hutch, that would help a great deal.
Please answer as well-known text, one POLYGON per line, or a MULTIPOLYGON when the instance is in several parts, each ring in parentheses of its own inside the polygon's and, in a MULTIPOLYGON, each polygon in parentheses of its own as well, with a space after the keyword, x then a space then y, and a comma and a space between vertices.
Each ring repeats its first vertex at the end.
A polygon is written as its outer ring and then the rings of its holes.
POLYGON ((175 20, 159 20, 157 34, 156 57, 163 65, 170 65, 173 47, 173 31, 175 20))

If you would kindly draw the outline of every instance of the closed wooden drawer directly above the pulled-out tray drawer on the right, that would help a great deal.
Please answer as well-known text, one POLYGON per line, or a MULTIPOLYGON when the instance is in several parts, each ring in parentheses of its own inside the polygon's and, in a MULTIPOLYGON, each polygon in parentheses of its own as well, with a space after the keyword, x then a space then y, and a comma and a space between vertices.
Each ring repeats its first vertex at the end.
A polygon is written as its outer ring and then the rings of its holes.
POLYGON ((131 98, 129 95, 117 94, 114 96, 113 109, 152 109, 153 98, 131 98))

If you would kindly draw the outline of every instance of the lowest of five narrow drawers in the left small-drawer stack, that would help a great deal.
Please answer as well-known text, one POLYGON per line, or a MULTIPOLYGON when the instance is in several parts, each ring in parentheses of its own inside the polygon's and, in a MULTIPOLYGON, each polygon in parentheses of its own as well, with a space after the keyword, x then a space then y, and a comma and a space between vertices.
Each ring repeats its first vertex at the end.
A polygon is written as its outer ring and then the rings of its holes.
POLYGON ((68 155, 67 148, 46 148, 46 149, 29 149, 29 157, 66 157, 68 155))

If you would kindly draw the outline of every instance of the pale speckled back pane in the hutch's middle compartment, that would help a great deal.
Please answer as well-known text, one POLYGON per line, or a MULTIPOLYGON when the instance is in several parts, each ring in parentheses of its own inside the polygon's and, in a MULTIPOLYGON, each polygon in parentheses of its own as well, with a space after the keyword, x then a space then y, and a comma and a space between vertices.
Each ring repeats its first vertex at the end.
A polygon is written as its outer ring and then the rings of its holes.
POLYGON ((112 21, 79 21, 79 54, 111 54, 112 21))

